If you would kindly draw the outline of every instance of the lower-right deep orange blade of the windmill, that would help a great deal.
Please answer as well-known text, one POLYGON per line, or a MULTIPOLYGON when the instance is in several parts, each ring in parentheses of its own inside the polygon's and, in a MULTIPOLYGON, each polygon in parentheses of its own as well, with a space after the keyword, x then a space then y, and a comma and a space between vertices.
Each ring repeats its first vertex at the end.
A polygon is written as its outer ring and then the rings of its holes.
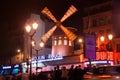
POLYGON ((68 37, 70 41, 74 41, 77 38, 77 35, 75 35, 72 31, 64 27, 63 25, 60 26, 62 31, 65 33, 65 35, 68 37))

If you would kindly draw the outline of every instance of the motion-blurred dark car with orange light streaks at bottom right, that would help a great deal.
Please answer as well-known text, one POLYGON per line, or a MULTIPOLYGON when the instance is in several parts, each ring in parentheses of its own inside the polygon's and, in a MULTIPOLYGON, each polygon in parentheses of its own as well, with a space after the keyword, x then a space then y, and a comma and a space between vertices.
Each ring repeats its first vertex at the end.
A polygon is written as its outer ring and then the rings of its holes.
POLYGON ((120 80, 120 66, 94 68, 83 76, 83 80, 120 80))

